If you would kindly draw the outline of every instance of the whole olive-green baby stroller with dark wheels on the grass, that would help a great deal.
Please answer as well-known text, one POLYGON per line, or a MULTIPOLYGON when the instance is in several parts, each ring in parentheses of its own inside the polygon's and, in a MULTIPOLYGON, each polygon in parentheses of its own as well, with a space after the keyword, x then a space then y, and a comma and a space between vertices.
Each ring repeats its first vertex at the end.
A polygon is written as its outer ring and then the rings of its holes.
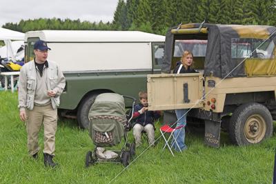
POLYGON ((86 167, 100 162, 122 163, 125 167, 135 155, 135 143, 128 143, 128 132, 131 129, 130 118, 126 118, 125 99, 132 100, 132 112, 136 99, 115 93, 99 94, 89 112, 89 135, 95 145, 94 151, 86 153, 86 167), (121 150, 106 150, 121 142, 124 136, 124 146, 121 150))

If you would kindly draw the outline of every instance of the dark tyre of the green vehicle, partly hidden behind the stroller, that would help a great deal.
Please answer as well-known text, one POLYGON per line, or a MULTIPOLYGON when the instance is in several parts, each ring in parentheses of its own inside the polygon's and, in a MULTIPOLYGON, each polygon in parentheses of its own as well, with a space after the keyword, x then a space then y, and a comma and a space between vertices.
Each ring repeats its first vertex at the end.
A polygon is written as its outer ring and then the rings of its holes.
POLYGON ((90 96, 87 96, 86 99, 83 99, 81 104, 79 104, 77 110, 77 122, 79 127, 89 128, 90 121, 88 119, 88 113, 97 96, 98 94, 90 94, 90 96))

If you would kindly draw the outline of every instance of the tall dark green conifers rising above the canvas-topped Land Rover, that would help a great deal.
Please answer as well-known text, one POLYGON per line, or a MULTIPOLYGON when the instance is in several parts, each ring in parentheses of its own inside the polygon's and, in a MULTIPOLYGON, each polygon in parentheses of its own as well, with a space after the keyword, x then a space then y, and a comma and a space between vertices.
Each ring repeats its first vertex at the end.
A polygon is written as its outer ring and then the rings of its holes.
POLYGON ((276 25, 275 18, 275 0, 119 0, 112 24, 164 34, 179 23, 276 25))

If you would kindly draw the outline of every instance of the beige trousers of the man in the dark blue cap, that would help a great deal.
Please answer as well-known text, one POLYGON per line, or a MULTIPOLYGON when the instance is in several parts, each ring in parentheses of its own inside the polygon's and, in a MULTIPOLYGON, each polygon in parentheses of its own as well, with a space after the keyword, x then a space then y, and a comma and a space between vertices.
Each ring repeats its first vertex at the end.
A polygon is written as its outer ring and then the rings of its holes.
POLYGON ((43 153, 55 155, 55 134, 57 131, 57 110, 52 105, 36 106, 33 110, 26 110, 26 129, 28 134, 28 152, 30 155, 39 151, 39 130, 44 127, 43 153))

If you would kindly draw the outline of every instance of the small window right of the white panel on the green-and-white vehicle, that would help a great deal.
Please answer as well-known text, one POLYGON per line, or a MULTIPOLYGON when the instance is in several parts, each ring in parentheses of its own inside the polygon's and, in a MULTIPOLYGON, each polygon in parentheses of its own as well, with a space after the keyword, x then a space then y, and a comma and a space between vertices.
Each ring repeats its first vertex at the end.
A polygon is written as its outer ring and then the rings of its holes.
POLYGON ((164 57, 165 43, 152 43, 153 68, 160 69, 164 57))

